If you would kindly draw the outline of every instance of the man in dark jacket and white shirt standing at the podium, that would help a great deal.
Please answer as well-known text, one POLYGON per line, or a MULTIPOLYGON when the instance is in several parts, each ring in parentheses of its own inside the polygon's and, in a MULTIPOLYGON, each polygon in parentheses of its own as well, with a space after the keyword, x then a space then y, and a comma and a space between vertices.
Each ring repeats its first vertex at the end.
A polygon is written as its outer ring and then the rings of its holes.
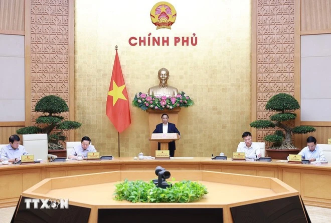
MULTIPOLYGON (((169 115, 168 114, 162 114, 162 123, 156 124, 156 127, 153 131, 153 133, 178 133, 181 138, 181 133, 177 129, 176 125, 174 123, 170 123, 169 120, 169 115)), ((160 150, 160 143, 157 143, 157 149, 160 150)), ((175 141, 169 142, 169 153, 171 157, 174 157, 175 155, 175 150, 176 150, 176 144, 175 141)))

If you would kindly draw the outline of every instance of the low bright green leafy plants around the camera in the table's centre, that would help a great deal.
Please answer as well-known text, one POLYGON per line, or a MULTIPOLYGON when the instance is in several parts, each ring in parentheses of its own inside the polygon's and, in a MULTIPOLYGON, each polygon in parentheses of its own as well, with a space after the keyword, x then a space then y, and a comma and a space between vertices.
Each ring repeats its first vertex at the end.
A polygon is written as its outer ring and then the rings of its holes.
POLYGON ((205 185, 191 180, 174 182, 171 187, 162 189, 156 187, 151 181, 143 180, 129 181, 115 185, 115 200, 128 200, 130 202, 150 202, 150 203, 184 203, 202 199, 207 194, 205 185))

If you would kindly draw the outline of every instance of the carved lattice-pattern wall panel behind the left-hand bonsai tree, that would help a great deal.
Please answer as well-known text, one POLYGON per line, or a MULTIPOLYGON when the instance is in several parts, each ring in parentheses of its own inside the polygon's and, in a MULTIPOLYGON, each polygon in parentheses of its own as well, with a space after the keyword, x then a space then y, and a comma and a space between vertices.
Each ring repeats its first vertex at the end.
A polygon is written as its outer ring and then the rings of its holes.
MULTIPOLYGON (((41 97, 54 94, 62 97, 68 105, 70 102, 69 85, 74 79, 69 78, 69 64, 73 62, 69 61, 69 32, 70 25, 73 26, 69 22, 69 1, 71 0, 30 2, 28 12, 30 13, 30 33, 27 36, 30 36, 31 50, 32 123, 40 115, 34 112, 34 107, 41 97)), ((73 93, 74 89, 71 91, 73 93)), ((70 106, 69 110, 71 110, 70 106)), ((69 112, 63 115, 65 119, 69 119, 69 112)), ((68 136, 68 132, 65 134, 68 136)))

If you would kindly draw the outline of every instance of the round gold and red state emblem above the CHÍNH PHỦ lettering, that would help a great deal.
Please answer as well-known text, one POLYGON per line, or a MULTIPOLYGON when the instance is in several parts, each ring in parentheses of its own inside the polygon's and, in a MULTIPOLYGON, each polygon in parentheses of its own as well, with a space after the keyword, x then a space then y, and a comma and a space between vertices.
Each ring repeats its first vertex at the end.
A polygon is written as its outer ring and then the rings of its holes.
POLYGON ((156 29, 169 28, 175 23, 177 12, 175 7, 167 2, 160 1, 154 4, 150 10, 150 18, 156 29))

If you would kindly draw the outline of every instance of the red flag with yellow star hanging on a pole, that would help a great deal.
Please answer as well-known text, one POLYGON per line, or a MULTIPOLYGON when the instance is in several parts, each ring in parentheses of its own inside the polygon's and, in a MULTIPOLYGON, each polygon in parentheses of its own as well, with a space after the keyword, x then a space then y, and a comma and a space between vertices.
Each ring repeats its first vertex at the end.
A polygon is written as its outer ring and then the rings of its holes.
POLYGON ((119 57, 116 55, 107 96, 106 114, 119 133, 131 123, 130 106, 119 57))

